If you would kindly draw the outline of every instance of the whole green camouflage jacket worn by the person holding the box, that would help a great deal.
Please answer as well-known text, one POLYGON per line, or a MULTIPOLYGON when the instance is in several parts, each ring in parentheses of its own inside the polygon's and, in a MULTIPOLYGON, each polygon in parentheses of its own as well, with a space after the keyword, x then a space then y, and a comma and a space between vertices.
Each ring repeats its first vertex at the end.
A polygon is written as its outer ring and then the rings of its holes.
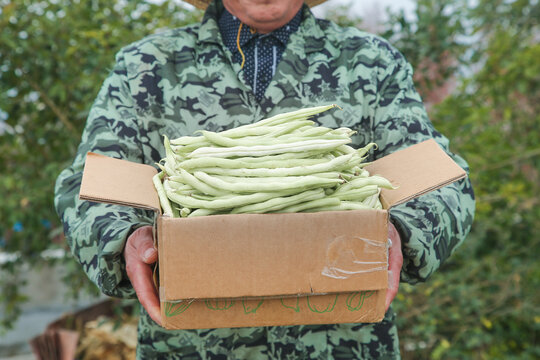
MULTIPOLYGON (((257 102, 240 65, 221 40, 212 3, 201 24, 131 44, 117 61, 89 114, 73 164, 58 177, 55 204, 73 254, 103 293, 129 298, 134 291, 122 251, 134 228, 153 214, 78 200, 87 151, 154 164, 169 138, 196 130, 221 131, 302 107, 335 103, 322 114, 328 127, 357 131, 356 146, 379 145, 371 159, 434 138, 453 159, 448 140, 428 120, 412 82, 412 69, 383 39, 317 20, 304 6, 276 74, 257 102)), ((426 280, 468 233, 474 196, 468 180, 391 210, 404 252, 402 281, 426 280)), ((183 359, 396 359, 392 311, 379 324, 344 324, 167 331, 143 311, 138 357, 183 359)))

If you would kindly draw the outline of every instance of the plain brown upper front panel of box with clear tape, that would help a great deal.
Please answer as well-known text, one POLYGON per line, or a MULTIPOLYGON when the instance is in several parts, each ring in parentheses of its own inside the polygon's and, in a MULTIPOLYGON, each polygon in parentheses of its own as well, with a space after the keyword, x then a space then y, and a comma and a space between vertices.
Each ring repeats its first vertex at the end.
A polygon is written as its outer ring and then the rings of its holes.
POLYGON ((387 212, 162 218, 162 300, 387 286, 387 212))

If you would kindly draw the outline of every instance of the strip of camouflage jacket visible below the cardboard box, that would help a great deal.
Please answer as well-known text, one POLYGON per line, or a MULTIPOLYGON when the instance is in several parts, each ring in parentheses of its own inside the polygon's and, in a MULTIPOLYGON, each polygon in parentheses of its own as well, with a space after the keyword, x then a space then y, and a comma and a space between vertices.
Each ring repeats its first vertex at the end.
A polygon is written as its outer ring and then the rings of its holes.
POLYGON ((378 324, 272 326, 155 332, 147 315, 139 322, 137 356, 155 359, 399 359, 395 315, 378 324), (163 356, 163 357, 161 357, 163 356))

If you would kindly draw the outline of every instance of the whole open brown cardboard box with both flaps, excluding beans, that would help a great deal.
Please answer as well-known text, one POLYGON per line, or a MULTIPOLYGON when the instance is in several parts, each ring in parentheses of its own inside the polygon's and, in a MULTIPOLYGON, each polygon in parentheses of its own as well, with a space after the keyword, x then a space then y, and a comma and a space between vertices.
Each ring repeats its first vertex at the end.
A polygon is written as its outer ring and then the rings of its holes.
POLYGON ((167 329, 378 322, 388 209, 466 173, 434 140, 367 169, 399 187, 382 190, 384 210, 169 218, 160 213, 155 168, 93 153, 80 197, 156 212, 167 329))

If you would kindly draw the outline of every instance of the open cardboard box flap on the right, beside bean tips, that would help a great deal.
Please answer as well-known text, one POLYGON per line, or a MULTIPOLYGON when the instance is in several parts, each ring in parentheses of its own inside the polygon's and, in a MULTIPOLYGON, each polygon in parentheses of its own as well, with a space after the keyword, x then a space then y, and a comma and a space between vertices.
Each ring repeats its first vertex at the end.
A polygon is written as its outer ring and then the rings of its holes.
POLYGON ((384 176, 398 187, 382 189, 380 199, 385 209, 467 176, 433 139, 378 159, 366 169, 371 175, 384 176))

